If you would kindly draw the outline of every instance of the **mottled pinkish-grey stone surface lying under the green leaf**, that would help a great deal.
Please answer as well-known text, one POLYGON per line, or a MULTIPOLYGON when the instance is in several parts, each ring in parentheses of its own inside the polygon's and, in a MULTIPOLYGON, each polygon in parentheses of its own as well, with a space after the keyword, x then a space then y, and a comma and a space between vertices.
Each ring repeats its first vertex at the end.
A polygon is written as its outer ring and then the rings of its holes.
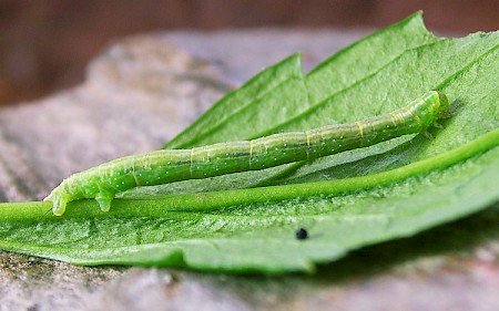
MULTIPOLYGON (((136 37, 86 82, 0 112, 0 200, 41 199, 61 177, 159 148, 217 97, 296 51, 310 69, 354 31, 136 37)), ((499 208, 325 265, 315 276, 74 267, 0 252, 0 310, 499 310, 499 208)))

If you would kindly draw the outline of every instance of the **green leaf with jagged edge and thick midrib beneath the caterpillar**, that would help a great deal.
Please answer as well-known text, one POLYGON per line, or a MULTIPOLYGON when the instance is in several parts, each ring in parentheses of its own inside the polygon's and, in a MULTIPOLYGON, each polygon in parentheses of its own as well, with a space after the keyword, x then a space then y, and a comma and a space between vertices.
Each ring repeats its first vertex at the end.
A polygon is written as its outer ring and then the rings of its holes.
POLYGON ((43 216, 44 203, 0 205, 0 248, 80 265, 313 271, 487 208, 499 200, 498 46, 498 32, 437 39, 415 14, 307 75, 294 55, 223 97, 166 147, 356 121, 428 90, 448 95, 451 117, 431 141, 408 135, 310 164, 139 188, 110 212, 93 200, 70 204, 63 217, 43 216), (258 184, 273 186, 246 188, 258 184), (307 239, 295 238, 298 228, 307 239))

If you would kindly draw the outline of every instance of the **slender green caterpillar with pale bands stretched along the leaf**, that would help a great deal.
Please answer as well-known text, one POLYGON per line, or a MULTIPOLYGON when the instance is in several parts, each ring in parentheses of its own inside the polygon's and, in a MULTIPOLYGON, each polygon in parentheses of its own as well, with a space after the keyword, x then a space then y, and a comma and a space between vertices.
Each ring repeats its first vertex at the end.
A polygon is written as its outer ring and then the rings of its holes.
POLYGON ((312 160, 406 134, 427 133, 429 126, 447 114, 448 106, 445 94, 430 91, 406 107, 355 123, 274 134, 253 141, 121 157, 71 175, 44 200, 53 203, 52 212, 57 216, 64 214, 69 201, 83 198, 95 198, 101 210, 108 211, 116 193, 138 186, 312 160))

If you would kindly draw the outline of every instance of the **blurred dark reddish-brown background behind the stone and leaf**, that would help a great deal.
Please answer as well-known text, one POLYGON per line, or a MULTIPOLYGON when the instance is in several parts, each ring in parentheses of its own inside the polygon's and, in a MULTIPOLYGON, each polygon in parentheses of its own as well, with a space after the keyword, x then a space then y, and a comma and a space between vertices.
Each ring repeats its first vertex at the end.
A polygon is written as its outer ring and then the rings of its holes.
POLYGON ((83 81, 118 38, 175 29, 384 28, 417 11, 437 33, 499 29, 498 0, 0 0, 0 105, 83 81))

